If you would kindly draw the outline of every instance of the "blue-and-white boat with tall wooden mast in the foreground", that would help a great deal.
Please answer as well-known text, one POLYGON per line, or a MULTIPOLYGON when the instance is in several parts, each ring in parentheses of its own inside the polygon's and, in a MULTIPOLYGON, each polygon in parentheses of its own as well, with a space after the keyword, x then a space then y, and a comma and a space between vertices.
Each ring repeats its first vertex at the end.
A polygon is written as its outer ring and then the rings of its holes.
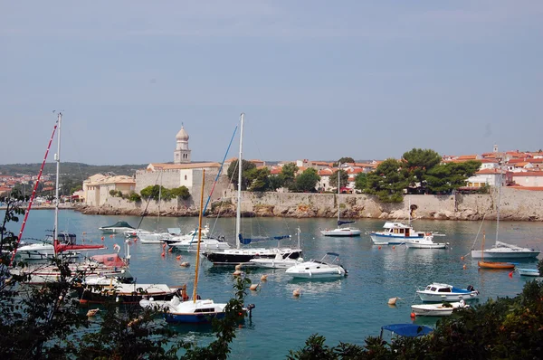
MULTIPOLYGON (((203 170, 202 184, 205 184, 205 170, 203 170)), ((204 213, 204 187, 200 196, 200 216, 198 229, 202 229, 202 216, 204 213)), ((202 237, 202 232, 198 232, 198 244, 202 237)), ((192 299, 189 299, 186 292, 181 296, 174 296, 171 300, 155 300, 151 298, 143 298, 139 301, 142 308, 159 308, 165 311, 165 319, 170 323, 208 323, 213 318, 223 318, 226 313, 226 303, 215 303, 212 299, 202 299, 197 293, 198 288, 198 269, 200 264, 200 249, 196 249, 195 261, 195 282, 192 299)), ((247 311, 251 311, 254 306, 248 307, 247 311)))

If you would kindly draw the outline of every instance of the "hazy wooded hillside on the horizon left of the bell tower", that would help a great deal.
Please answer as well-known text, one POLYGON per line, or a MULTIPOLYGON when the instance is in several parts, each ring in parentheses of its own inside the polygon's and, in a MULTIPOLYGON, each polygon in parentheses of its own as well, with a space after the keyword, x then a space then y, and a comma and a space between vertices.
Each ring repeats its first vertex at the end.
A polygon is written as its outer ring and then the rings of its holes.
MULTIPOLYGON (((38 175, 42 164, 6 164, 0 165, 0 174, 2 175, 38 175)), ((61 163, 62 175, 68 175, 71 178, 84 180, 90 175, 98 173, 114 173, 115 175, 134 175, 136 170, 144 169, 148 164, 136 165, 87 165, 81 163, 61 163)), ((54 175, 56 173, 55 163, 46 163, 43 167, 43 174, 54 175)))

